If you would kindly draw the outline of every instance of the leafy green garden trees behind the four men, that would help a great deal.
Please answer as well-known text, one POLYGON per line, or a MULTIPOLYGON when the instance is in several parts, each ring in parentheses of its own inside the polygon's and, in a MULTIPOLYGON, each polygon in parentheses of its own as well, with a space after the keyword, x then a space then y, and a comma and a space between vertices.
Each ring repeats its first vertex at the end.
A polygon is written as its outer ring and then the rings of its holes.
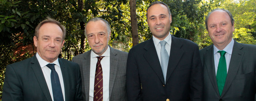
MULTIPOLYGON (((90 50, 84 35, 88 20, 100 17, 111 25, 109 44, 129 52, 133 45, 148 40, 146 10, 155 0, 0 0, 0 101, 5 69, 36 53, 33 45, 35 27, 50 16, 67 29, 62 58, 90 50), (28 48, 30 47, 30 48, 28 48)), ((235 20, 233 38, 256 44, 256 0, 162 0, 170 7, 170 33, 189 39, 199 48, 211 45, 205 29, 205 16, 215 8, 229 10, 235 20)))

